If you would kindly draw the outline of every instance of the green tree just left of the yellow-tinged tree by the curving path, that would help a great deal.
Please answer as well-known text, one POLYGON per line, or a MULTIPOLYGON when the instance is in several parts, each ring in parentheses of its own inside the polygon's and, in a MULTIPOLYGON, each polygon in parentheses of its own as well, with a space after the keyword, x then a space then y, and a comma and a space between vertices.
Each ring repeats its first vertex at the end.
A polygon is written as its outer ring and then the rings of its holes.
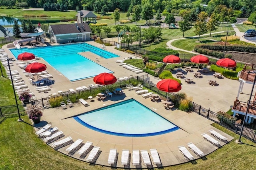
POLYGON ((190 21, 190 11, 183 10, 180 12, 181 20, 179 21, 179 29, 183 32, 183 37, 185 31, 191 29, 191 21, 190 21))

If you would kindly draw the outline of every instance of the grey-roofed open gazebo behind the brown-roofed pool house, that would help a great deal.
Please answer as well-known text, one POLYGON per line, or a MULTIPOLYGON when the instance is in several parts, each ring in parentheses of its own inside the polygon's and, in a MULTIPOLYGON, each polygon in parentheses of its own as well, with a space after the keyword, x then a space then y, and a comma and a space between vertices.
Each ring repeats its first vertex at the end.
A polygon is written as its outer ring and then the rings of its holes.
POLYGON ((78 23, 96 23, 96 15, 93 12, 88 10, 80 10, 77 12, 77 22, 78 23), (91 21, 92 20, 92 21, 91 21))

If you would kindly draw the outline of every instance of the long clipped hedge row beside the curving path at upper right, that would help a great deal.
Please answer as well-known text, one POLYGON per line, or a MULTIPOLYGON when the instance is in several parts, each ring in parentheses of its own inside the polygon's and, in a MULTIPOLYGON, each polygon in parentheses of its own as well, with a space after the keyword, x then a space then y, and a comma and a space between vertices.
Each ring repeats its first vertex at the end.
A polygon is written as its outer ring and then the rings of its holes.
MULTIPOLYGON (((223 51, 224 45, 223 43, 214 43, 213 45, 196 45, 194 47, 194 51, 198 51, 199 48, 208 49, 213 51, 223 51)), ((256 53, 255 45, 240 45, 240 44, 229 44, 226 43, 226 51, 239 51, 246 53, 256 53)))

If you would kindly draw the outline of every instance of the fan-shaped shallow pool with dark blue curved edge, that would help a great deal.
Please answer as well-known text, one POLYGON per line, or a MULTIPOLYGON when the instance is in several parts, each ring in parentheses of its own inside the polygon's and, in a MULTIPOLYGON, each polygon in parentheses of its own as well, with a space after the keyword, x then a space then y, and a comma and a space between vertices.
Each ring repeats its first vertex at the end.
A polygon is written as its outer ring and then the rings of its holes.
POLYGON ((179 129, 134 99, 83 113, 74 119, 95 131, 126 137, 161 135, 179 129))

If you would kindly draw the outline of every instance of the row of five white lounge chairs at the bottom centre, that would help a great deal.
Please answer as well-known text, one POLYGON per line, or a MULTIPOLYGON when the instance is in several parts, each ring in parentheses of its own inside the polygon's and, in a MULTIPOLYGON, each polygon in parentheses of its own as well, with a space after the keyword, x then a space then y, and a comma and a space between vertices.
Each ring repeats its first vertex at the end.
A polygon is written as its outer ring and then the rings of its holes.
MULTIPOLYGON (((110 149, 109 155, 108 155, 108 164, 112 165, 115 164, 117 161, 117 149, 110 149)), ((132 164, 134 166, 140 165, 140 153, 142 156, 143 164, 145 166, 152 165, 150 156, 148 154, 148 150, 132 150, 132 164)), ((159 154, 156 149, 150 149, 150 155, 152 157, 152 161, 154 164, 158 165, 161 164, 161 160, 159 157, 159 154)), ((129 150, 123 149, 122 150, 122 156, 121 156, 121 164, 122 165, 128 165, 129 162, 129 150)))

